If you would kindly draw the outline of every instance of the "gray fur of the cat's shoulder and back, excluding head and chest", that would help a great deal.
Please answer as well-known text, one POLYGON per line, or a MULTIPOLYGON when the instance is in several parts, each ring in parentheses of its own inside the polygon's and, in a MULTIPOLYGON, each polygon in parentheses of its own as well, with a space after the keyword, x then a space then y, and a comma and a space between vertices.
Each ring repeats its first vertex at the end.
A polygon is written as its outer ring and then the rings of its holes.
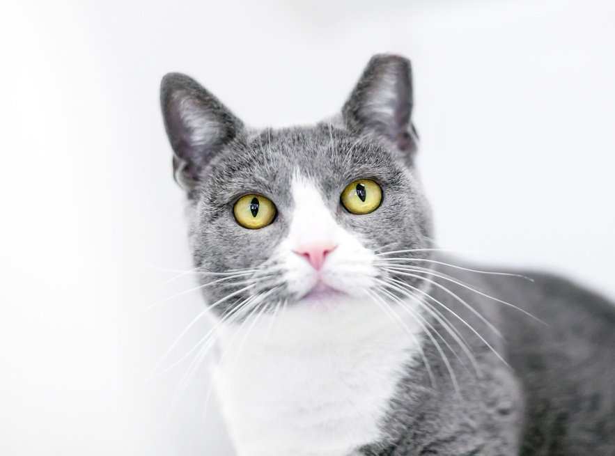
MULTIPOLYGON (((460 265, 451 258, 436 259, 460 265)), ((444 266, 439 271, 533 317, 437 278, 501 331, 500 338, 444 290, 430 292, 488 340, 510 367, 460 320, 451 320, 472 347, 481 368, 477 374, 442 325, 434 322, 460 356, 461 361, 448 353, 460 395, 442 357, 426 346, 428 362, 441 373, 437 389, 425 372, 409 371, 383 424, 389 438, 363 448, 364 454, 615 455, 612 303, 545 274, 483 276, 444 266)))

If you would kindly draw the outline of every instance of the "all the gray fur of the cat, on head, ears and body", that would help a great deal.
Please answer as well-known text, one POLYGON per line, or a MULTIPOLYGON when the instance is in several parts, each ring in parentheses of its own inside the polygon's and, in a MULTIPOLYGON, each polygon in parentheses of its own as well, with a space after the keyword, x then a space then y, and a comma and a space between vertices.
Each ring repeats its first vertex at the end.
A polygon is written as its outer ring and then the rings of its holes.
MULTIPOLYGON (((189 196, 190 242, 203 273, 201 283, 215 280, 208 273, 233 269, 256 269, 251 277, 263 277, 256 288, 221 303, 220 315, 276 286, 274 300, 288 300, 290 305, 297 300, 284 287, 281 274, 274 272, 272 258, 288 231, 293 210, 290 178, 295 170, 316 180, 336 221, 359 233, 368 248, 394 242, 387 250, 423 249, 398 256, 412 267, 437 265, 430 274, 383 270, 382 276, 408 287, 434 282, 429 283, 431 298, 426 301, 446 315, 450 327, 444 327, 437 313, 426 313, 425 319, 438 340, 453 350, 444 347, 453 375, 425 338, 423 350, 435 382, 422 360, 412 363, 414 368, 407 369, 381 423, 384 437, 358 449, 360 454, 615 455, 612 304, 552 276, 524 273, 534 278, 532 282, 441 265, 435 262, 456 262, 427 250, 432 228, 428 205, 414 179, 417 136, 410 118, 410 62, 405 58, 375 56, 342 116, 315 127, 249 130, 205 89, 179 74, 164 78, 162 107, 176 178, 189 196), (189 118, 182 113, 186 105, 193 109, 189 118), (199 128, 207 134, 195 134, 199 128), (378 210, 361 217, 344 210, 339 201, 344 187, 357 178, 375 180, 384 192, 378 210), (270 226, 247 230, 233 218, 233 204, 249 193, 274 201, 278 214, 270 226), (512 306, 453 280, 470 283, 512 306), (478 372, 451 333, 465 340, 478 372)), ((204 288, 206 301, 238 292, 241 280, 204 288)))

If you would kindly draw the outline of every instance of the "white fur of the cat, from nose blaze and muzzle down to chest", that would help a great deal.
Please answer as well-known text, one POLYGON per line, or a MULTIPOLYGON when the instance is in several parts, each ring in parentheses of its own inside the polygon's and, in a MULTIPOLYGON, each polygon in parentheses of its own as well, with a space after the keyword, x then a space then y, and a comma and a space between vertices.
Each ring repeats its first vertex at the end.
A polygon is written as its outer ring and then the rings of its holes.
POLYGON ((335 222, 314 184, 295 176, 295 211, 277 258, 291 290, 318 280, 300 242, 336 243, 320 279, 350 296, 299 301, 243 326, 226 325, 215 383, 240 456, 349 456, 380 436, 379 423, 417 352, 419 325, 402 327, 362 289, 375 275, 374 253, 335 222))

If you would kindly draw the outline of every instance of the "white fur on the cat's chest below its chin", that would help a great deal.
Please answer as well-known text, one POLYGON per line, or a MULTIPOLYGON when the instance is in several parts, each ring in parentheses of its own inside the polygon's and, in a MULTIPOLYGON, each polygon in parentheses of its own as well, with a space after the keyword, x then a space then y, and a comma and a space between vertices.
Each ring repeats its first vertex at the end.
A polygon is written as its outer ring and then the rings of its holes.
POLYGON ((379 306, 294 306, 225 327, 215 384, 240 456, 347 456, 375 441, 419 325, 379 306), (248 332, 249 331, 249 332, 248 332))

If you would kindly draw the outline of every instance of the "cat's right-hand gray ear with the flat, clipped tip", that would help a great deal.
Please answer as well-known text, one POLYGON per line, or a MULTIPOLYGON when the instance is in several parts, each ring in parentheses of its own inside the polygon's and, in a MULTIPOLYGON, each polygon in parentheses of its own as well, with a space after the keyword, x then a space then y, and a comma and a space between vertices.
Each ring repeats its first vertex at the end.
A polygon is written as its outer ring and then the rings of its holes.
POLYGON ((342 114, 353 131, 375 136, 410 158, 418 141, 411 121, 410 61, 391 54, 373 56, 342 114))

